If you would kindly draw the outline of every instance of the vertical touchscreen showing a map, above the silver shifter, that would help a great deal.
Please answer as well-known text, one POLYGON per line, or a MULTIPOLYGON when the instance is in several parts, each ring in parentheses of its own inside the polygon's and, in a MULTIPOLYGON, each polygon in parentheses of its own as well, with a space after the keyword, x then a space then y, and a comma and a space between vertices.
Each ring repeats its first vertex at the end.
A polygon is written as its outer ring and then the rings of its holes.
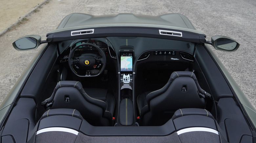
POLYGON ((121 55, 121 71, 133 71, 132 55, 121 55))

